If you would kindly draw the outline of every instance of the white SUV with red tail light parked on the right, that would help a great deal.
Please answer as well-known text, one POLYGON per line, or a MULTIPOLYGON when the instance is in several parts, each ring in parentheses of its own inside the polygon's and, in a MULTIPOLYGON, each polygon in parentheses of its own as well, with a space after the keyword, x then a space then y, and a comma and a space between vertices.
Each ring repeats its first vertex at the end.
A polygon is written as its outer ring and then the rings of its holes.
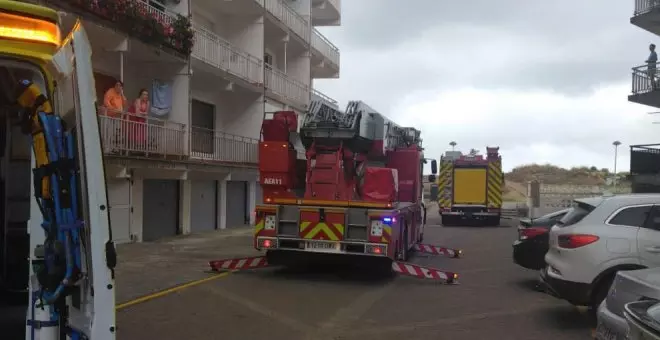
POLYGON ((573 203, 550 230, 541 280, 551 294, 596 310, 617 271, 660 267, 660 194, 573 203))

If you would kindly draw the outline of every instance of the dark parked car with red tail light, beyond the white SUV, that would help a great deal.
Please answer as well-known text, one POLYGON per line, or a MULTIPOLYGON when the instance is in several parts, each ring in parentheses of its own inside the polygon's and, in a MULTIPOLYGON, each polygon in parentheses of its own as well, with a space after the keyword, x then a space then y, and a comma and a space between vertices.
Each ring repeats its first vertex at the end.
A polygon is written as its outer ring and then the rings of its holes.
POLYGON ((549 232, 569 209, 559 210, 538 218, 524 218, 518 226, 518 240, 513 243, 513 262, 533 270, 545 267, 545 253, 549 248, 549 232))

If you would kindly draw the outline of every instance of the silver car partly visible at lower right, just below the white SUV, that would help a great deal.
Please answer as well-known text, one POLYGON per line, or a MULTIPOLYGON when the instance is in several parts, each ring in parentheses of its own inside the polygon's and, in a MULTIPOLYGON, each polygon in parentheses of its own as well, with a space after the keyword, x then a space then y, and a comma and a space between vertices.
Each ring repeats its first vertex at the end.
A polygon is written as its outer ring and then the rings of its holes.
POLYGON ((660 268, 617 272, 607 297, 598 307, 596 339, 626 339, 624 306, 644 300, 660 302, 660 268))

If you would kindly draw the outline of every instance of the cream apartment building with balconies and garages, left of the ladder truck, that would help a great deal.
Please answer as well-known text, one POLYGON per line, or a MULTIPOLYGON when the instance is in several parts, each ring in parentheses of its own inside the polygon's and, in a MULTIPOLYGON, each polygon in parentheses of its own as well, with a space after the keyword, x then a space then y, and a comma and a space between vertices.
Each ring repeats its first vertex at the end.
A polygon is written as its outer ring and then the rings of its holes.
POLYGON ((119 243, 252 223, 264 114, 302 117, 312 96, 336 104, 313 90, 340 64, 314 27, 340 24, 340 0, 40 2, 68 13, 65 26, 81 17, 93 46, 119 243), (103 106, 117 80, 128 100, 119 113, 103 106), (129 108, 143 90, 146 118, 129 108))

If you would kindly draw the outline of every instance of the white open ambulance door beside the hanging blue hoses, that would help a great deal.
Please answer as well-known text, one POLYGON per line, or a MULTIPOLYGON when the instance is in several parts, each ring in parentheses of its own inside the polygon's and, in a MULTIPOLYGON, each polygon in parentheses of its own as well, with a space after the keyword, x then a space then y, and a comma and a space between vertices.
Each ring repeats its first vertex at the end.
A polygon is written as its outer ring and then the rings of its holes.
MULTIPOLYGON (((91 45, 78 21, 49 65, 57 80, 55 108, 69 127, 75 127, 80 204, 84 217, 84 233, 81 235, 85 244, 81 249, 84 278, 81 280, 79 302, 68 303, 67 321, 70 327, 89 339, 114 340, 116 253, 110 229, 91 57, 91 45)), ((32 210, 31 216, 41 216, 38 208, 32 210)), ((40 220, 37 222, 41 223, 40 220)), ((30 229, 40 228, 36 223, 31 223, 30 229)), ((42 235, 40 237, 43 238, 42 235)), ((30 280, 31 291, 34 291, 32 285, 35 281, 30 280)))

